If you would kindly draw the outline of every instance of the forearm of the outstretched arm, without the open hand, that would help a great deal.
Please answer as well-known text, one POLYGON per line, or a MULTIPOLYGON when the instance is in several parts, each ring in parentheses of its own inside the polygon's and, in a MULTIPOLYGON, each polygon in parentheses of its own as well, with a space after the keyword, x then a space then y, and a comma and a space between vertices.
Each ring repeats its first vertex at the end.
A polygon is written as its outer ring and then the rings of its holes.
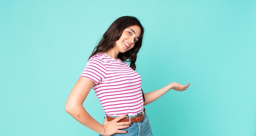
POLYGON ((149 93, 145 93, 144 94, 144 106, 147 104, 150 104, 151 102, 155 101, 156 99, 158 99, 159 97, 161 97, 162 95, 164 95, 166 92, 168 92, 169 90, 173 89, 172 84, 168 84, 167 86, 164 86, 161 89, 149 92, 149 93))

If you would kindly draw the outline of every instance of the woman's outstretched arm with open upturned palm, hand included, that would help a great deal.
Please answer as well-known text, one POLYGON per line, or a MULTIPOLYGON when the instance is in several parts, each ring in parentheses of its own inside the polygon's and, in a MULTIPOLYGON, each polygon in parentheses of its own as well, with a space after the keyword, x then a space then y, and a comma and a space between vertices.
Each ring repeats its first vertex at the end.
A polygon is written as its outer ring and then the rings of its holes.
POLYGON ((185 91, 186 89, 189 88, 189 84, 186 85, 182 85, 176 82, 172 82, 171 84, 168 84, 167 86, 164 86, 161 89, 149 92, 149 93, 145 93, 144 97, 145 97, 145 101, 144 101, 144 106, 147 104, 150 104, 151 102, 155 101, 156 99, 158 99, 159 97, 161 97, 162 95, 164 95, 166 92, 168 92, 171 89, 174 89, 176 91, 185 91))

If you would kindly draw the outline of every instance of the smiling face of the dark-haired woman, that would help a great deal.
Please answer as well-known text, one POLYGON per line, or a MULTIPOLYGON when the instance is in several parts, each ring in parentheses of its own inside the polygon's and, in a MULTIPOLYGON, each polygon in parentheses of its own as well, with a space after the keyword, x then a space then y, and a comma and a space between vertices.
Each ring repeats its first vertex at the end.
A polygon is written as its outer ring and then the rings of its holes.
POLYGON ((141 29, 139 26, 134 25, 126 28, 121 37, 115 42, 114 47, 118 52, 127 52, 132 49, 135 43, 139 40, 141 29))

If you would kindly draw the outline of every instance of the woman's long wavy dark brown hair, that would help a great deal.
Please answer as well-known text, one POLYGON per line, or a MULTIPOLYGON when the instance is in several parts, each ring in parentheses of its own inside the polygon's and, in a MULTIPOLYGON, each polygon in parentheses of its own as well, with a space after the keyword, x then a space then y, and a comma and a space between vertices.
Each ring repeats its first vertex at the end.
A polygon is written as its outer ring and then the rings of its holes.
POLYGON ((139 40, 135 43, 134 47, 127 52, 119 53, 118 58, 122 61, 130 62, 130 67, 135 70, 135 62, 137 60, 137 53, 142 45, 142 39, 144 34, 144 28, 136 17, 124 16, 116 19, 104 33, 99 44, 94 48, 89 59, 97 53, 103 53, 112 48, 117 40, 121 37, 123 31, 133 25, 137 25, 141 28, 141 34, 139 40))

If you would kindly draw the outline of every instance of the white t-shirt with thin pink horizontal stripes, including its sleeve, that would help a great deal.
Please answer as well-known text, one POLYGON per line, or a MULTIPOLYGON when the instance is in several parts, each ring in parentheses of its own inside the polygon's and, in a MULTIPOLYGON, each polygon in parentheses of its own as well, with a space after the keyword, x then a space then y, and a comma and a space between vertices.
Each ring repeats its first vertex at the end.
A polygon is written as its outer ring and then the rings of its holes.
POLYGON ((141 77, 124 61, 96 54, 88 60, 81 76, 96 83, 93 89, 106 115, 136 115, 142 111, 141 77))

